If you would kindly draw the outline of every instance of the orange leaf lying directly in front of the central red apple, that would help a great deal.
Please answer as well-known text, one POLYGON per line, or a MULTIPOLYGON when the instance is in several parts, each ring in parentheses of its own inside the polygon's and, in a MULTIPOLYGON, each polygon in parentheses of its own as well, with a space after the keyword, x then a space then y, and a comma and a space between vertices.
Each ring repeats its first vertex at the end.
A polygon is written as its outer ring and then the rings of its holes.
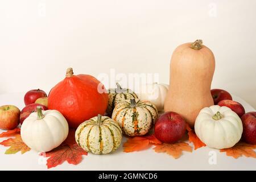
POLYGON ((173 156, 174 159, 179 158, 182 154, 182 151, 192 152, 192 147, 185 142, 177 142, 174 144, 156 144, 156 147, 153 149, 155 152, 166 152, 168 155, 173 156))

